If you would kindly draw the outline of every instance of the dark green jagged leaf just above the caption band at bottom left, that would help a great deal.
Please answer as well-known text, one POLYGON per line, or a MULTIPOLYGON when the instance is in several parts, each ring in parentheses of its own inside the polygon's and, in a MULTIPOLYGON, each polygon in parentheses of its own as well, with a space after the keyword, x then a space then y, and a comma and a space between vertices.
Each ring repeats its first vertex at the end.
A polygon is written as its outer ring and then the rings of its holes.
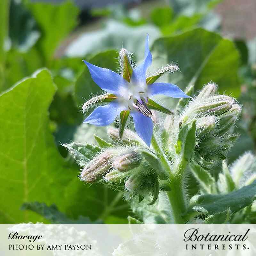
POLYGON ((39 202, 24 203, 21 206, 21 210, 36 212, 52 224, 92 224, 92 221, 88 217, 79 216, 77 220, 68 218, 64 213, 59 212, 55 204, 47 206, 39 202))

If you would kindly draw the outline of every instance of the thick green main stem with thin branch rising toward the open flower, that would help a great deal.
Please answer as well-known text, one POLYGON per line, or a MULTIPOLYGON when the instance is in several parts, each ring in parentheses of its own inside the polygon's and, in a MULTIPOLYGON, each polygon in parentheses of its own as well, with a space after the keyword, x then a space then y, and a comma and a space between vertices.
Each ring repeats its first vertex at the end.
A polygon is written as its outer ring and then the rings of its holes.
MULTIPOLYGON (((174 175, 175 172, 171 171, 171 168, 164 157, 164 154, 159 147, 156 138, 154 135, 152 136, 152 147, 155 149, 156 153, 159 156, 159 159, 163 165, 163 167, 168 171, 169 180, 171 183, 171 191, 166 192, 171 204, 171 212, 174 218, 175 223, 184 224, 185 219, 182 218, 183 214, 186 212, 186 199, 184 196, 182 181, 178 175, 174 175)), ((186 168, 186 166, 180 165, 179 168, 186 168)), ((183 172, 182 172, 183 173, 183 172)))

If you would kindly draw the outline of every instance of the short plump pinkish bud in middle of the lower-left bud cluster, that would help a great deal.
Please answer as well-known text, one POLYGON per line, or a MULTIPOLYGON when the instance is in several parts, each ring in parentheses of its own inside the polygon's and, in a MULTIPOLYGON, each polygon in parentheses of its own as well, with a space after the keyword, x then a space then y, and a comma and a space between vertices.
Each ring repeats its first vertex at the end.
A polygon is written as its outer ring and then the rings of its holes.
POLYGON ((122 156, 119 156, 112 163, 112 166, 120 171, 127 172, 140 165, 141 158, 135 151, 128 152, 122 156))

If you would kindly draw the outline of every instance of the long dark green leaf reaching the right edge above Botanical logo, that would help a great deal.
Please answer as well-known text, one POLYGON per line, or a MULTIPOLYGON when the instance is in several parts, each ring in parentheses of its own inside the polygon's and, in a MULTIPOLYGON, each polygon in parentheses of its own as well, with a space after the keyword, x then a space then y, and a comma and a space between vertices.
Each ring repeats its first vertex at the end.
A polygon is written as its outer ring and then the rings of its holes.
POLYGON ((224 212, 228 209, 232 213, 239 211, 252 204, 256 195, 256 181, 251 185, 244 186, 238 190, 224 195, 201 195, 192 198, 192 204, 188 208, 188 212, 202 212, 207 214, 215 214, 224 212))

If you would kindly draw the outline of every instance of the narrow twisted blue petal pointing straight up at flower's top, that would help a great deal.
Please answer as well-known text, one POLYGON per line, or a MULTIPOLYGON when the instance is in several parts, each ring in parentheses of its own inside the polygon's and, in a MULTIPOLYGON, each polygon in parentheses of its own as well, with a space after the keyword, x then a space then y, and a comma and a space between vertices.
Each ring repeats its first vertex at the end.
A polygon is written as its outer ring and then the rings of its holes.
POLYGON ((134 68, 132 72, 132 80, 134 83, 137 84, 145 84, 146 83, 146 72, 148 67, 152 63, 152 54, 149 51, 148 47, 148 35, 146 38, 146 44, 145 44, 145 60, 143 63, 138 65, 136 68, 134 68))

